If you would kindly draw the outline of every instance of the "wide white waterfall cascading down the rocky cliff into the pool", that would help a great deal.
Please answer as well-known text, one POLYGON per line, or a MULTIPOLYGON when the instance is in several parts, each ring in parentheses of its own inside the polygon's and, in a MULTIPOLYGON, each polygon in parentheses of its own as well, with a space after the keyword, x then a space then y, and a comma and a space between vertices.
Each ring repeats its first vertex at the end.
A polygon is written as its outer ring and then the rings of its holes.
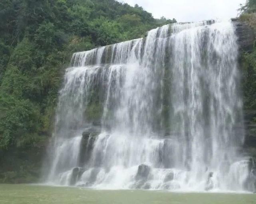
POLYGON ((248 190, 231 22, 172 24, 73 54, 48 183, 248 190))

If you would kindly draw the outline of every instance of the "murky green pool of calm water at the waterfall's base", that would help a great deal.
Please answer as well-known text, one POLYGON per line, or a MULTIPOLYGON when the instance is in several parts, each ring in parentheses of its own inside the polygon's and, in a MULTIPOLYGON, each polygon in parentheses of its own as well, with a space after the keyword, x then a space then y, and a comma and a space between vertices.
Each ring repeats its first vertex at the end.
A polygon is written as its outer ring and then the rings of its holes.
POLYGON ((0 185, 0 204, 256 204, 256 194, 0 185))

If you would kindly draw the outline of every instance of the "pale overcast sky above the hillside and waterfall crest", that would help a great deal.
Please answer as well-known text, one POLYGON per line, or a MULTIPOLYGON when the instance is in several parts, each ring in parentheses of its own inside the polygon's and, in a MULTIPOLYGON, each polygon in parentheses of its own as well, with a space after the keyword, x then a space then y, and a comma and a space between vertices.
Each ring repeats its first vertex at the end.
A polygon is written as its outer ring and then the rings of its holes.
POLYGON ((246 0, 119 0, 131 6, 138 4, 155 18, 165 16, 178 22, 236 17, 246 0))

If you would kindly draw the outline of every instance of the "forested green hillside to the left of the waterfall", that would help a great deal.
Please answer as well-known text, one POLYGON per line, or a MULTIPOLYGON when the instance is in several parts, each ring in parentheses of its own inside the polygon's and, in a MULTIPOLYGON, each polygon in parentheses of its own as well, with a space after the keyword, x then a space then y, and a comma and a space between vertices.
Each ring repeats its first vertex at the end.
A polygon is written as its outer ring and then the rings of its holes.
POLYGON ((175 22, 115 0, 0 1, 0 181, 34 182, 73 52, 175 22))

